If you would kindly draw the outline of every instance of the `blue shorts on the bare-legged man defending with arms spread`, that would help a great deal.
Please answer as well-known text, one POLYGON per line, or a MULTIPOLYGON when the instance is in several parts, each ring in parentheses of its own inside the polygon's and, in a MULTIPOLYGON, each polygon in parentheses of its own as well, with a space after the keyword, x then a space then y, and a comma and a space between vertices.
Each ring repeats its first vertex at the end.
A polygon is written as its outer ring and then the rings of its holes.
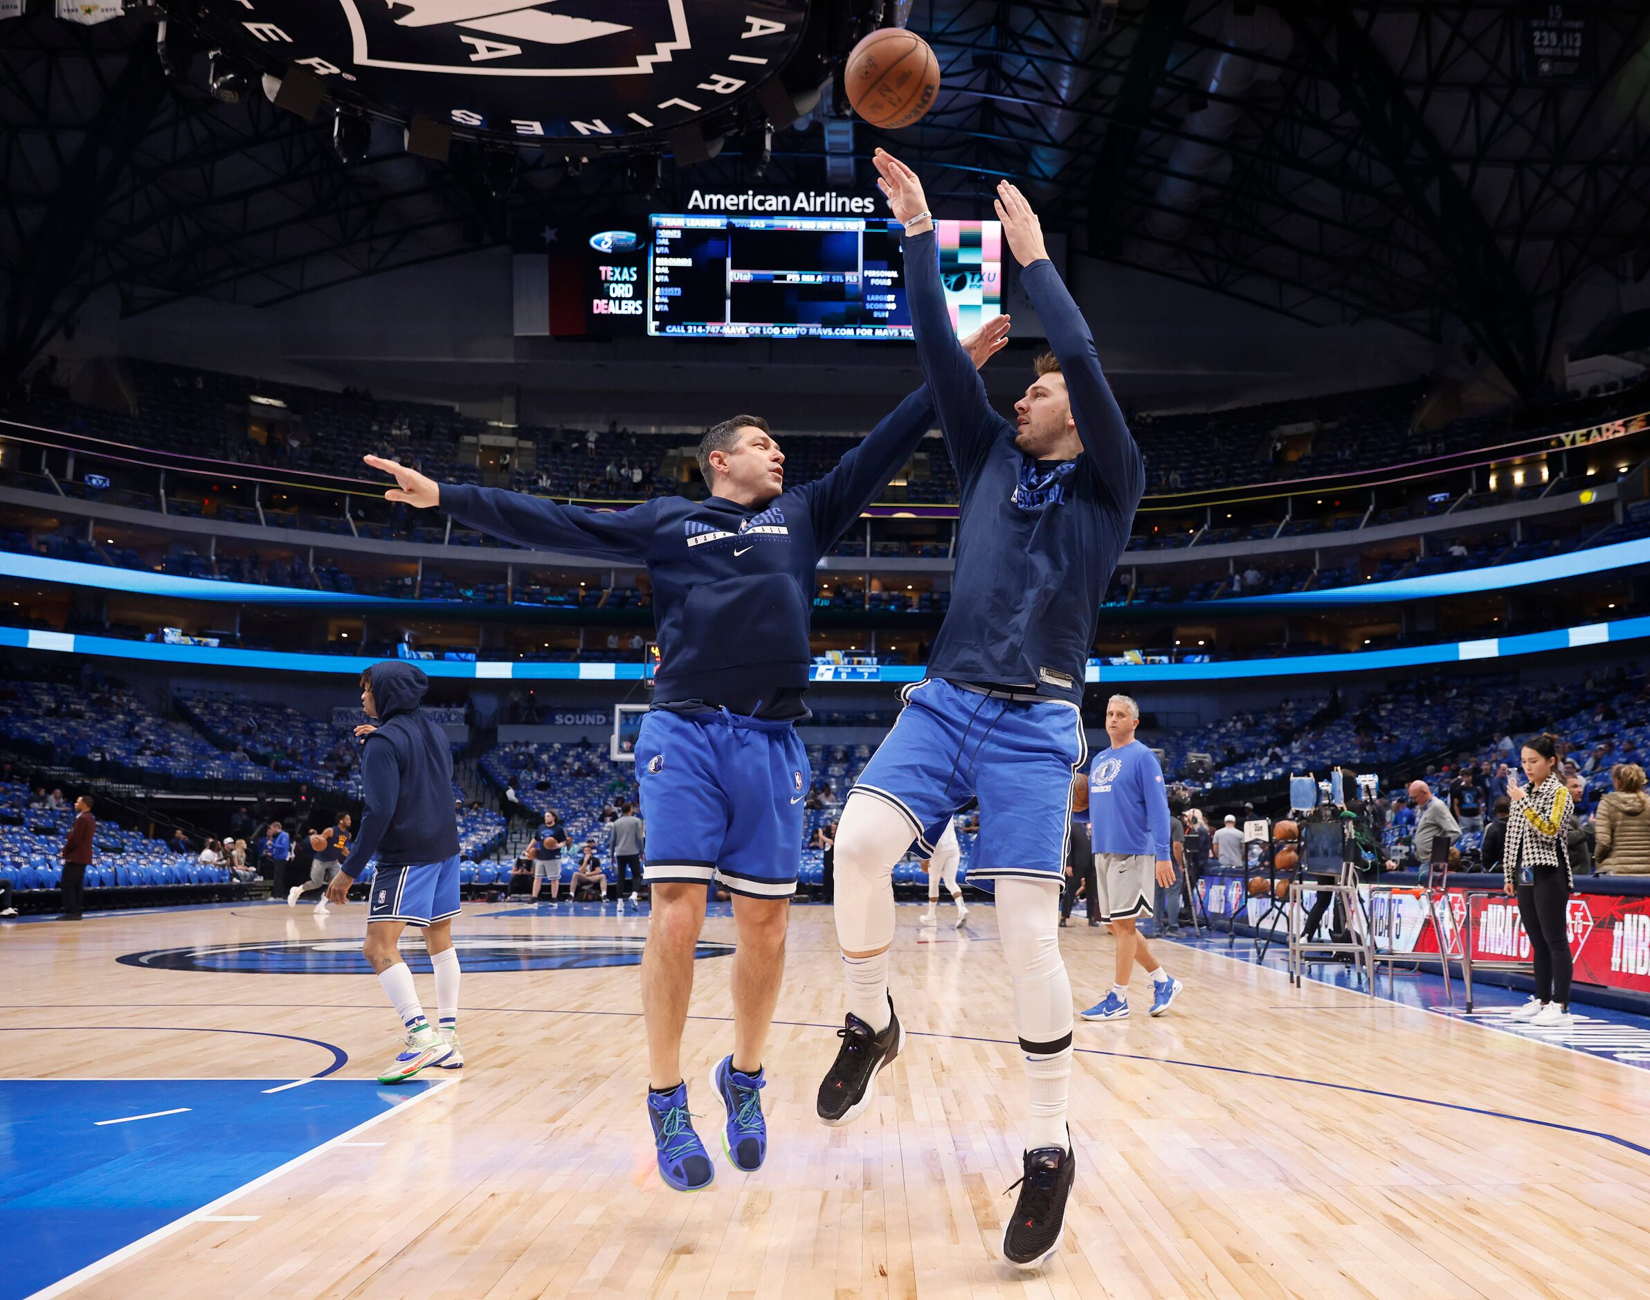
POLYGON ((807 749, 790 723, 653 709, 635 737, 648 884, 721 881, 790 897, 802 866, 807 749))

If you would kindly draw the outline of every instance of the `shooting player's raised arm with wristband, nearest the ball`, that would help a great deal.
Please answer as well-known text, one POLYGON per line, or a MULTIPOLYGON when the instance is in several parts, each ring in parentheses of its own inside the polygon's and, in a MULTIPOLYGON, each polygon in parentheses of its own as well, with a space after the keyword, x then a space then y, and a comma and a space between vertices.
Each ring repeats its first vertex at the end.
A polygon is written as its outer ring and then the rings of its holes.
POLYGON ((945 310, 945 287, 939 279, 939 247, 934 218, 922 195, 916 172, 878 148, 878 188, 888 198, 894 221, 906 228, 906 302, 911 309, 911 332, 916 335, 917 360, 934 391, 939 427, 945 436, 950 459, 959 472, 967 472, 1005 421, 992 409, 967 351, 957 341, 945 310))

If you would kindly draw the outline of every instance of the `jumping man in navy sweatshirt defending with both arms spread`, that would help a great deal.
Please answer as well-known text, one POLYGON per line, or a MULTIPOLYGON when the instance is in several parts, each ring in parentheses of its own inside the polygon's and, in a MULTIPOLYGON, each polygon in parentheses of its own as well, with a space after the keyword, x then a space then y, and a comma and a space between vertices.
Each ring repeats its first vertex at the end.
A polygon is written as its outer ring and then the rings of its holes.
MULTIPOLYGON (((1008 341, 1006 318, 969 340, 969 365, 1008 341)), ((648 1095, 658 1173, 678 1191, 714 1178, 693 1128, 681 1074, 681 1031, 706 886, 733 894, 733 1053, 711 1071, 728 1112, 724 1150, 752 1171, 767 1153, 762 1049, 785 965, 785 927, 802 863, 808 759, 795 723, 812 653, 815 568, 932 427, 926 388, 906 398, 823 478, 785 487, 785 457, 759 416, 734 416, 700 442, 711 497, 657 497, 624 511, 584 510, 502 488, 437 483, 394 460, 384 493, 441 506, 495 538, 645 566, 653 582, 660 665, 653 706, 635 742, 644 878, 653 922, 642 954, 648 1095)))

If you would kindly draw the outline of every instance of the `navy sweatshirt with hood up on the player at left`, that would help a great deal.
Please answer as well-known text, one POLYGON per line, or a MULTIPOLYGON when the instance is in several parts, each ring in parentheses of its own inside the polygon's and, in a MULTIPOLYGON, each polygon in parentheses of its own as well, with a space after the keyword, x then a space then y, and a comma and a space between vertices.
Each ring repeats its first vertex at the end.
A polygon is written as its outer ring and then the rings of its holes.
POLYGON ((378 855, 380 866, 439 863, 459 856, 452 815, 452 749, 419 704, 424 670, 389 660, 368 671, 378 731, 361 742, 361 833, 343 863, 355 878, 378 855))

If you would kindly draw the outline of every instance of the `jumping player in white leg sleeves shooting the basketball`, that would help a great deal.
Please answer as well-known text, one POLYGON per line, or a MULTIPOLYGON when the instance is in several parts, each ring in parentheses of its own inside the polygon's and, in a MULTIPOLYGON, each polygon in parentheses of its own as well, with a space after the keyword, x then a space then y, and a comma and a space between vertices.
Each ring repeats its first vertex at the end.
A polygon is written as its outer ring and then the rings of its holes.
POLYGON ((1031 1269, 1059 1246, 1076 1170, 1066 1127, 1071 982, 1058 926, 1072 777, 1087 749, 1082 675, 1145 464, 1025 196, 1000 183, 997 214, 1053 353, 1038 358, 1008 421, 957 346, 921 181, 883 150, 874 162, 906 229, 917 356, 957 467, 962 516, 950 609, 927 678, 906 688, 899 721, 850 792, 837 835, 848 1016, 818 1117, 835 1125, 865 1110, 904 1043, 888 993, 894 863, 912 840, 932 855, 947 818, 977 797, 969 879, 995 883, 1031 1110, 1003 1254, 1031 1269))

